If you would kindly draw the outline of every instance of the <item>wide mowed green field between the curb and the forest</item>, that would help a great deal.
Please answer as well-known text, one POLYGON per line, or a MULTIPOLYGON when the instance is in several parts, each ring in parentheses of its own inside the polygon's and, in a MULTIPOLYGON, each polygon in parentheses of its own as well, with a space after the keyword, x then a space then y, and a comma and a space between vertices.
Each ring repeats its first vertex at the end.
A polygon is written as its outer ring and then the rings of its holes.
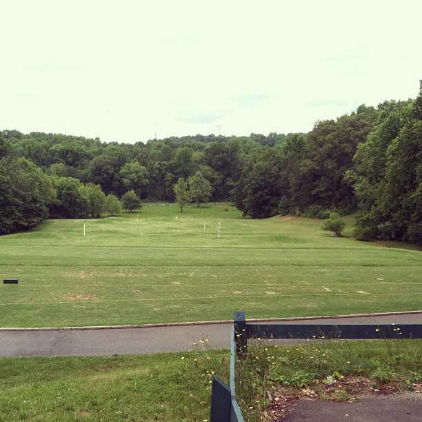
POLYGON ((333 238, 321 220, 145 205, 0 237, 0 326, 123 325, 422 309, 422 252, 333 238), (217 226, 221 221, 221 239, 217 226), (205 225, 205 230, 204 230, 205 225))

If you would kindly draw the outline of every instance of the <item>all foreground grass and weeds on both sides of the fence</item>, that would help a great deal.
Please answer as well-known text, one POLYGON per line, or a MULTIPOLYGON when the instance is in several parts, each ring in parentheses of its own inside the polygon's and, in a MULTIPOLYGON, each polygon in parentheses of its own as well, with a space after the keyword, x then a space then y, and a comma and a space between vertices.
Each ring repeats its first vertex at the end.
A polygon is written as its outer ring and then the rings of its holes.
MULTIPOLYGON (((327 376, 367 376, 380 388, 420 383, 421 346, 419 340, 250 345, 237 369, 245 420, 260 420, 271 405, 268 392, 313 388, 327 376)), ((0 359, 0 421, 205 421, 213 373, 228 382, 227 350, 0 359)))

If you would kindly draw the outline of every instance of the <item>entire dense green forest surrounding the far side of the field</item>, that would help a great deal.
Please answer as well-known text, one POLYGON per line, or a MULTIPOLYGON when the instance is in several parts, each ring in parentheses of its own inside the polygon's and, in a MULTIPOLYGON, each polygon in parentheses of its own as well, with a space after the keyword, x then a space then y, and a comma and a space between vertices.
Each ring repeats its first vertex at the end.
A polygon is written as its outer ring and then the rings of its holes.
POLYGON ((128 144, 3 130, 0 158, 0 233, 49 215, 113 214, 115 197, 132 191, 135 199, 163 201, 179 192, 184 203, 190 188, 198 205, 228 200, 252 218, 356 211, 358 239, 422 243, 422 92, 359 106, 309 133, 128 144))

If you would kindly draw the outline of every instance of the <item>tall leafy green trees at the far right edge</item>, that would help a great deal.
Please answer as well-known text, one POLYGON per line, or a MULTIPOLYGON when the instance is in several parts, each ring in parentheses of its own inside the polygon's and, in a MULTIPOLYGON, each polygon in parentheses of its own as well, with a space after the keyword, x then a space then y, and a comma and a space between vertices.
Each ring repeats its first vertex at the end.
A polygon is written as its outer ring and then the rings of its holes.
POLYGON ((422 244, 422 94, 378 108, 378 124, 346 174, 359 201, 354 234, 422 244))

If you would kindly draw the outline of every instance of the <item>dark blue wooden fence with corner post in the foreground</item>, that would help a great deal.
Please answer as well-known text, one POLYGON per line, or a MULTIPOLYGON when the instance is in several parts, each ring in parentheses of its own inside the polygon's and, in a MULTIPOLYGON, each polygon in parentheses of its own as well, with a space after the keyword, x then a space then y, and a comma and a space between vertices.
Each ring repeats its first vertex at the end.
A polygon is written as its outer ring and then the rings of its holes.
POLYGON ((248 339, 422 339, 422 324, 262 324, 234 312, 230 342, 230 387, 212 379, 210 422, 244 422, 236 399, 236 357, 248 355, 248 339))

